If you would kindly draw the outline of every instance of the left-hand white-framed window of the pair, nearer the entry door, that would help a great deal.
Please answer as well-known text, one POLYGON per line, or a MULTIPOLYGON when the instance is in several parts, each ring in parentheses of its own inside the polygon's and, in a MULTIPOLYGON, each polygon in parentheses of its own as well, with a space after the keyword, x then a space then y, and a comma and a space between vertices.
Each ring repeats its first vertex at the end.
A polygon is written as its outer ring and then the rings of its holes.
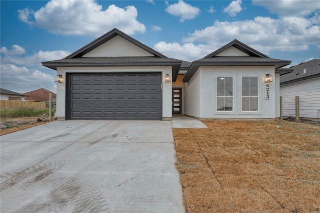
POLYGON ((216 111, 233 111, 233 77, 216 77, 216 111))

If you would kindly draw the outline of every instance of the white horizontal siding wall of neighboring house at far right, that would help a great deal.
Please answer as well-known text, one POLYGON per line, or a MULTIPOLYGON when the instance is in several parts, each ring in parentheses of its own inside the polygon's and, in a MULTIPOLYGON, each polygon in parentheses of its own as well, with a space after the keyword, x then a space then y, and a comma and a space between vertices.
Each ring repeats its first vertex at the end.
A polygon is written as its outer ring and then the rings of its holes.
POLYGON ((299 96, 299 116, 316 118, 320 109, 320 77, 281 85, 280 96, 284 117, 295 117, 295 96, 299 96))

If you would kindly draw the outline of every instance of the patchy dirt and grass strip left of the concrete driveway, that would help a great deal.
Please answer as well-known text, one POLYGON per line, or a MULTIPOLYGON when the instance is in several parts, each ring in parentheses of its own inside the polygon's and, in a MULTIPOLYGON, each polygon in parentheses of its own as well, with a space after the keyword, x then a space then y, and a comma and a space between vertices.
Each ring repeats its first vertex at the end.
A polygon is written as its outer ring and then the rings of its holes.
MULTIPOLYGON (((54 121, 54 120, 52 120, 54 121)), ((20 118, 0 118, 0 135, 9 134, 30 127, 38 126, 49 122, 49 118, 42 117, 20 117, 20 118)))

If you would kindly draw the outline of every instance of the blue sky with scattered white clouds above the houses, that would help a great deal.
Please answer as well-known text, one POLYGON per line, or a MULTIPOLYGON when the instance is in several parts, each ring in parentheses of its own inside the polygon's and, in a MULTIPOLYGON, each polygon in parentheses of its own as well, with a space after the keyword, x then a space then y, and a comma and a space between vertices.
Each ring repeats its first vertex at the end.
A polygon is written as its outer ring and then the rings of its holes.
POLYGON ((0 0, 0 87, 56 92, 62 59, 113 28, 193 61, 237 39, 296 65, 320 58, 318 0, 0 0))

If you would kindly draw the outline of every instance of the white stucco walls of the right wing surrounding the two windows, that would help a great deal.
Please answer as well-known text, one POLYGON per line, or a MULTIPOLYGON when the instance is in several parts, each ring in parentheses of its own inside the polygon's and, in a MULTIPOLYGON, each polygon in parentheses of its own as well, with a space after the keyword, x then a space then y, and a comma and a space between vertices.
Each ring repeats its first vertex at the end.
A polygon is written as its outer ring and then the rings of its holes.
POLYGON ((254 118, 275 117, 276 83, 279 75, 274 74, 273 66, 242 66, 242 67, 200 67, 187 83, 186 115, 199 118, 254 118), (265 74, 274 76, 269 83, 270 97, 265 99, 265 74), (233 77, 233 110, 216 110, 216 77, 233 77), (258 110, 243 112, 241 110, 241 78, 243 76, 258 77, 258 110))

